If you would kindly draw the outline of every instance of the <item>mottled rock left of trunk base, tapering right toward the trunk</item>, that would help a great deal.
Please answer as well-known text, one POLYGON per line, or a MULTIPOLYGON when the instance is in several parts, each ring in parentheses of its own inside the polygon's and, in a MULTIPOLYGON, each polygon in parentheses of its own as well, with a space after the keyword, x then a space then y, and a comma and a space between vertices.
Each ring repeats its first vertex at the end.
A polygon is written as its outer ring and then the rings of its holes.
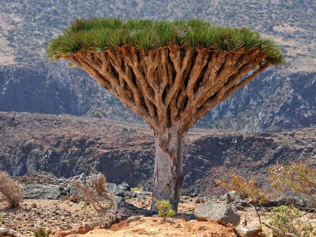
POLYGON ((148 209, 138 208, 133 204, 130 204, 122 200, 114 204, 107 211, 105 226, 109 228, 112 226, 112 224, 119 223, 123 220, 127 220, 131 216, 152 216, 154 214, 157 213, 152 212, 148 209))

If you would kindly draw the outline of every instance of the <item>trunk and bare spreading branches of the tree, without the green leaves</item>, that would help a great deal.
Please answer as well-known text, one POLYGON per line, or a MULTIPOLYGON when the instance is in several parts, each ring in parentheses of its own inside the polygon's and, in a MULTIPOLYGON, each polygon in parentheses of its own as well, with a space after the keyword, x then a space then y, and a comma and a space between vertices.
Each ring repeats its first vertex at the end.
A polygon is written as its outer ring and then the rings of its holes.
POLYGON ((154 130, 154 198, 170 200, 174 210, 178 208, 183 179, 185 132, 269 67, 265 57, 259 50, 216 52, 179 46, 150 52, 123 46, 103 53, 64 56, 87 71, 154 130))

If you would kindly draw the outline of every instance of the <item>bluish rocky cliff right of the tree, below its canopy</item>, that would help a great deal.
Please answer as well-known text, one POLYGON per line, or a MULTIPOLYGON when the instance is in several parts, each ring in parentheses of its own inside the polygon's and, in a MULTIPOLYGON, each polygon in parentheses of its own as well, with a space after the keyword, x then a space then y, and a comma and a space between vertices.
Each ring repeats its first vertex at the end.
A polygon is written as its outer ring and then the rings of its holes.
POLYGON ((268 70, 213 108, 201 126, 233 127, 236 130, 280 130, 315 125, 316 73, 283 73, 268 70))

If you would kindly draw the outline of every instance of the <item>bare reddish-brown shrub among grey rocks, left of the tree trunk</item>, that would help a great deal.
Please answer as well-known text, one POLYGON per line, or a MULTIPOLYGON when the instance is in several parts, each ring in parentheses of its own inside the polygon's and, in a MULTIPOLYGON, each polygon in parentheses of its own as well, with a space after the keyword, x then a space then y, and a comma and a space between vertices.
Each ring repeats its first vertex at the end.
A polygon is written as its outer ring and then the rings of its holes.
POLYGON ((81 184, 78 180, 73 182, 73 186, 78 187, 79 191, 74 192, 71 197, 72 201, 84 201, 87 204, 92 204, 98 212, 105 212, 113 205, 113 199, 110 193, 106 190, 106 178, 103 174, 99 174, 97 178, 89 179, 86 184, 81 184), (105 203, 104 201, 108 201, 105 203))

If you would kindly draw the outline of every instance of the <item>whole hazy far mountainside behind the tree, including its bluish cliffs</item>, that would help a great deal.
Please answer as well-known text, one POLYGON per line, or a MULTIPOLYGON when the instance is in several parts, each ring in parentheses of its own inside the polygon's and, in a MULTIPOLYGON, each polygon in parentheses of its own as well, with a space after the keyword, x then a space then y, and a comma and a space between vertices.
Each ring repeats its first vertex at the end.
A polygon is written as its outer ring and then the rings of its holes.
POLYGON ((76 17, 203 18, 272 36, 287 63, 272 68, 214 108, 196 126, 277 131, 315 124, 316 2, 224 1, 0 1, 0 111, 143 121, 86 73, 66 62, 46 62, 45 47, 76 17))

